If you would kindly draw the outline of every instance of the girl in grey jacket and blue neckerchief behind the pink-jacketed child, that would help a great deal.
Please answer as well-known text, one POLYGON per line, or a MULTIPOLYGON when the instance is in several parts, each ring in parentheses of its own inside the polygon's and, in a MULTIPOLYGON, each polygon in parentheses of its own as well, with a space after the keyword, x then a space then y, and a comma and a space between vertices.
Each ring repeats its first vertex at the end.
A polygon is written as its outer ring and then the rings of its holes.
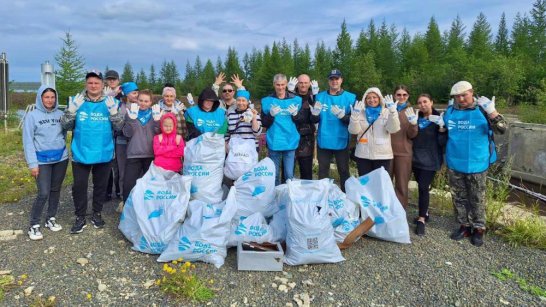
POLYGON ((152 106, 152 98, 152 91, 142 90, 138 93, 138 105, 132 103, 127 110, 123 126, 123 135, 128 139, 123 182, 124 202, 137 179, 148 171, 154 159, 153 140, 154 135, 159 133, 161 112, 158 104, 152 106))

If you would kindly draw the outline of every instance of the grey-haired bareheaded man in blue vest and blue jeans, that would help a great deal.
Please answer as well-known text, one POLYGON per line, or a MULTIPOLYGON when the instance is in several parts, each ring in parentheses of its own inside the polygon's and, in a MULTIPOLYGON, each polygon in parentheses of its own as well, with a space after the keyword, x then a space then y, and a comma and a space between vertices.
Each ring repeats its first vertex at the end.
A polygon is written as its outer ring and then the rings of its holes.
POLYGON ((281 163, 285 179, 294 178, 294 155, 300 140, 294 118, 301 109, 301 98, 286 90, 287 83, 283 74, 273 77, 275 93, 262 99, 260 115, 267 128, 269 157, 275 163, 275 185, 281 184, 281 163))

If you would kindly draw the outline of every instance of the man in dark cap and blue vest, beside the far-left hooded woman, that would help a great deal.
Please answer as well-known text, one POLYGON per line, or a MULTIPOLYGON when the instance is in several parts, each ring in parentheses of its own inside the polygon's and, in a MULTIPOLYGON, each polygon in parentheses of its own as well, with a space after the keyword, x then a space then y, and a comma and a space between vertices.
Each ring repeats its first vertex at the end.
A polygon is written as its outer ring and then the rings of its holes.
POLYGON ((118 113, 119 102, 103 94, 103 77, 97 70, 85 76, 85 91, 70 97, 68 108, 61 117, 65 130, 72 136, 72 198, 76 221, 70 232, 80 233, 86 226, 87 183, 89 173, 93 180, 93 215, 95 228, 104 227, 101 211, 106 196, 106 185, 114 157, 113 129, 120 129, 123 118, 118 113))

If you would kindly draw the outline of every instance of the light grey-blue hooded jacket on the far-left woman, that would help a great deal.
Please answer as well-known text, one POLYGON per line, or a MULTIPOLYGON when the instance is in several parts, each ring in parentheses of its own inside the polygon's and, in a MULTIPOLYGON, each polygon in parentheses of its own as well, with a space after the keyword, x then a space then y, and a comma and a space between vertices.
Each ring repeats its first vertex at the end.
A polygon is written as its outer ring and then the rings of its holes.
POLYGON ((23 124, 23 147, 29 168, 40 164, 52 164, 68 159, 66 131, 61 127, 63 112, 58 109, 58 94, 55 105, 47 110, 42 94, 48 86, 42 85, 36 94, 36 108, 27 114, 23 124))

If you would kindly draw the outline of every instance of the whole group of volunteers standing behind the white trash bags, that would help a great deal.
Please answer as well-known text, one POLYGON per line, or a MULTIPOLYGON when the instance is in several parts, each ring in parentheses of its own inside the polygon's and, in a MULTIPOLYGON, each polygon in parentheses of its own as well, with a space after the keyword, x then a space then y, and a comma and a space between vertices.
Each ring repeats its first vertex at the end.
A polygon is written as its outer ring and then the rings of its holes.
MULTIPOLYGON (((445 112, 434 108, 428 94, 417 97, 415 110, 404 85, 385 96, 379 88, 371 87, 358 100, 342 88, 341 71, 333 69, 327 77, 328 88, 319 91, 318 82, 306 74, 290 79, 275 75, 274 92, 261 99, 260 111, 254 108, 243 80, 233 75, 231 82, 226 82, 223 73, 200 93, 196 105, 188 94, 188 107, 177 99, 171 84, 165 85, 162 99, 154 104, 151 91, 139 90, 134 82, 119 85, 118 73, 111 70, 104 78, 96 70, 89 71, 85 90, 69 99, 64 113, 58 110, 55 89, 42 86, 36 96, 36 109, 27 115, 23 128, 25 157, 38 186, 29 237, 43 237, 40 219, 46 202, 45 227, 62 229, 55 215, 68 165, 69 130, 73 131, 72 197, 76 215, 70 232, 80 233, 86 226, 90 173, 91 223, 101 228, 105 224, 101 216, 103 203, 111 197, 112 186, 122 197, 123 206, 152 161, 166 170, 180 172, 186 142, 205 132, 224 134, 226 152, 232 137, 255 140, 259 151, 259 137, 266 128, 267 152, 275 163, 277 185, 294 178, 296 161, 300 178, 313 179, 316 152, 318 179, 330 177, 330 163, 335 158, 344 190, 352 158, 359 176, 381 167, 388 171, 400 203, 407 208, 408 183, 413 173, 419 187, 419 214, 415 220, 418 235, 425 234, 429 189, 445 154, 460 224, 451 238, 471 236, 472 244, 482 245, 485 180, 490 163, 496 159, 493 132, 504 133, 507 128, 495 109, 494 98, 474 97, 472 85, 460 81, 451 89, 452 99, 445 112), (351 135, 356 136, 352 150, 351 135)), ((224 183, 230 185, 233 181, 224 183)))

